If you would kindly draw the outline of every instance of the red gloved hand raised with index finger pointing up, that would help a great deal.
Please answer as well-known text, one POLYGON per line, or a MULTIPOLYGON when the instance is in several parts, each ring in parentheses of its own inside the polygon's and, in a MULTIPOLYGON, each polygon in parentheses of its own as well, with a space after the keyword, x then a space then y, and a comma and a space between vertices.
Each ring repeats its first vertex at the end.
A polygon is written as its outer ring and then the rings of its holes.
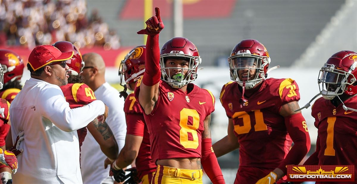
POLYGON ((165 26, 164 23, 162 23, 160 9, 158 7, 155 8, 155 16, 152 16, 145 23, 146 29, 138 31, 137 34, 155 36, 159 34, 162 29, 164 29, 165 26))

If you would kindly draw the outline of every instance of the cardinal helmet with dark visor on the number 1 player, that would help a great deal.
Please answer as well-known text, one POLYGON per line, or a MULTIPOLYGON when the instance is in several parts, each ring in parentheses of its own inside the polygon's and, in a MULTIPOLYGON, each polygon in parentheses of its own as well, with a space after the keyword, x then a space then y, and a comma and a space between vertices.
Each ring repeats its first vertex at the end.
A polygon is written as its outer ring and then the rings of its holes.
POLYGON ((357 53, 340 51, 328 58, 320 70, 318 84, 322 97, 333 99, 343 93, 357 93, 357 53))

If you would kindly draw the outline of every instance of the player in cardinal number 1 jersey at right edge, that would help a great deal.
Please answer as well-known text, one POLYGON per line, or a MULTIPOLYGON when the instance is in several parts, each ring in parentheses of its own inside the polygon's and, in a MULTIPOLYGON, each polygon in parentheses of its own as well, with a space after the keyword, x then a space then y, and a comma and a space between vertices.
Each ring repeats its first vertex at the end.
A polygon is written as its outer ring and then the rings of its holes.
POLYGON ((321 68, 318 83, 322 98, 311 107, 318 129, 316 151, 304 165, 355 165, 357 175, 356 66, 356 52, 340 51, 321 68))

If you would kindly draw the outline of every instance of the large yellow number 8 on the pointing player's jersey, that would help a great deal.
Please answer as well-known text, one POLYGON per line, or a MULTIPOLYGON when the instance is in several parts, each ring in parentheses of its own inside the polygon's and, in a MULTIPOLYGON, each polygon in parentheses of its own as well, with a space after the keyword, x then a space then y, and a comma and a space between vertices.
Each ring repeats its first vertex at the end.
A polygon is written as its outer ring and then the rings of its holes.
POLYGON ((180 144, 184 148, 197 149, 198 135, 197 129, 200 126, 200 115, 195 109, 183 108, 180 111, 180 144), (188 124, 188 117, 192 117, 192 125, 188 124), (188 134, 192 135, 192 140, 188 140, 188 134))

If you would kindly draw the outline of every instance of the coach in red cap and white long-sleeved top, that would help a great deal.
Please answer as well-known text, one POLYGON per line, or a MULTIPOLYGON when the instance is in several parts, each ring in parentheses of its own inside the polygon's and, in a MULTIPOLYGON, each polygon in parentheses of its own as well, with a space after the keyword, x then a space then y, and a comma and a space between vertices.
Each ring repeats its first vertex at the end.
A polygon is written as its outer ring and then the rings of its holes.
POLYGON ((14 183, 82 183, 76 130, 101 114, 106 118, 108 110, 99 100, 69 107, 59 86, 67 84, 66 60, 72 56, 51 45, 37 46, 29 56, 31 78, 10 107, 12 141, 25 132, 14 183))

